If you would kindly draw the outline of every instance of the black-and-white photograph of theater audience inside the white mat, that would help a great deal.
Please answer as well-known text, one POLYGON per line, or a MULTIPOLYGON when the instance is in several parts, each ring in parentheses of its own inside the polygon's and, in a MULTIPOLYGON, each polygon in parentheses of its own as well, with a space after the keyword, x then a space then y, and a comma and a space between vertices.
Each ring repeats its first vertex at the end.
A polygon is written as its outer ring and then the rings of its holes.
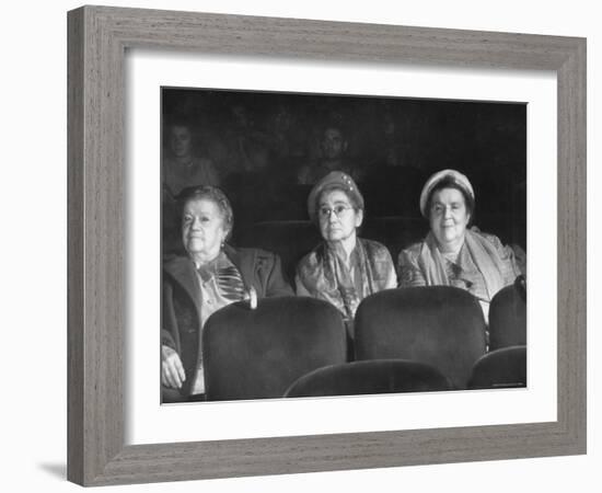
POLYGON ((160 96, 163 404, 526 387, 526 103, 160 96))

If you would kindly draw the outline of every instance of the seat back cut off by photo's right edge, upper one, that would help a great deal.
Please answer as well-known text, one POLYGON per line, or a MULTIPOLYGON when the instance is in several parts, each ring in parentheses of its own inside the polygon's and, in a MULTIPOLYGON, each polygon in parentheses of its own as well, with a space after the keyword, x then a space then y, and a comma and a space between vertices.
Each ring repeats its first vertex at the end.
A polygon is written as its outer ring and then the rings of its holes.
POLYGON ((499 290, 489 307, 489 349, 526 344, 526 303, 520 284, 499 290))

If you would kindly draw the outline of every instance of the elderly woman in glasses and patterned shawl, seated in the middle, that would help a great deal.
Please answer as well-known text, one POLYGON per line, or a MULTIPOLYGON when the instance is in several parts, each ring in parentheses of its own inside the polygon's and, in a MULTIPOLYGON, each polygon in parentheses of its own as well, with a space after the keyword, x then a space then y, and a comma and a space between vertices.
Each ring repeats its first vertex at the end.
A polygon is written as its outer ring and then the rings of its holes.
POLYGON ((316 183, 308 211, 324 241, 298 264, 297 294, 334 305, 352 336, 351 322, 360 301, 397 287, 395 266, 384 245, 357 237, 363 197, 348 174, 333 171, 316 183))

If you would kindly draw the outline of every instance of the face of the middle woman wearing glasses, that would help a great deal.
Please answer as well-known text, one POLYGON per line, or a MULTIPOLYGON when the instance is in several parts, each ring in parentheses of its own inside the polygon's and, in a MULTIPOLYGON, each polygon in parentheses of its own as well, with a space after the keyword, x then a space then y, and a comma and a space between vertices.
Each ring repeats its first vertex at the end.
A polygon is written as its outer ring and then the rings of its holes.
POLYGON ((320 232, 326 241, 343 241, 355 238, 356 228, 361 226, 363 211, 356 210, 340 190, 324 192, 317 203, 320 232))

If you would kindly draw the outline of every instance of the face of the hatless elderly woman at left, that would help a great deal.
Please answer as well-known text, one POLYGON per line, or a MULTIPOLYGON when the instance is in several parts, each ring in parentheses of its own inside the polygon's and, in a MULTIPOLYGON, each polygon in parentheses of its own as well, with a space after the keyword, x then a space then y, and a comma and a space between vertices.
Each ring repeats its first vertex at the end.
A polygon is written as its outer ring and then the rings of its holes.
POLYGON ((227 234, 222 213, 213 200, 193 199, 184 206, 182 241, 189 255, 213 259, 227 234))

